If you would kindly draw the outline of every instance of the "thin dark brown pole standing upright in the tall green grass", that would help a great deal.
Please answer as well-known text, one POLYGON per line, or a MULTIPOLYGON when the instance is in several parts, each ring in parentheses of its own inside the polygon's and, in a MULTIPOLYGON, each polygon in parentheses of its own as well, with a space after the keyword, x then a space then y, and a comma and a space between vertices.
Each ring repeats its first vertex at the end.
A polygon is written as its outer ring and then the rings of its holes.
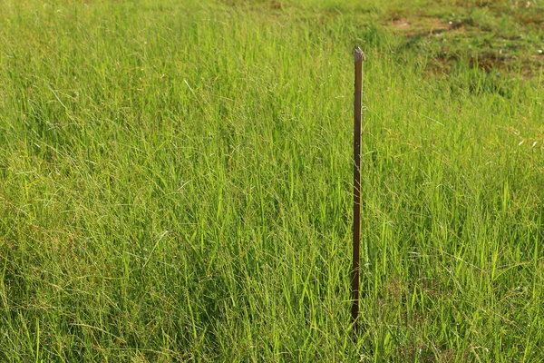
POLYGON ((352 322, 357 333, 359 324, 359 270, 361 260, 361 109, 364 54, 355 48, 355 101, 354 101, 354 265, 352 269, 352 322))

